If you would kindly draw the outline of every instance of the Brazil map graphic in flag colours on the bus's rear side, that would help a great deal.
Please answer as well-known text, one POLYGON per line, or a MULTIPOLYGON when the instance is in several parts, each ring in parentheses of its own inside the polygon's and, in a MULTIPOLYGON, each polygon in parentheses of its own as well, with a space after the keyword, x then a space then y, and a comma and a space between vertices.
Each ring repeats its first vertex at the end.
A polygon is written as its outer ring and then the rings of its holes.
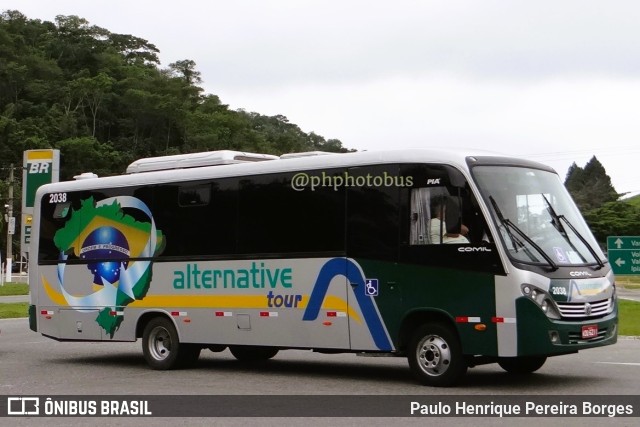
MULTIPOLYGON (((102 308, 96 322, 113 338, 124 319, 122 309, 147 294, 151 258, 164 247, 164 236, 156 230, 151 211, 131 196, 99 202, 90 197, 72 210, 54 243, 60 251, 57 279, 64 301, 79 311, 102 308), (71 284, 65 282, 65 269, 70 268, 67 261, 71 259, 86 265, 81 295, 67 291, 71 284)), ((73 289, 78 289, 77 283, 73 289)))

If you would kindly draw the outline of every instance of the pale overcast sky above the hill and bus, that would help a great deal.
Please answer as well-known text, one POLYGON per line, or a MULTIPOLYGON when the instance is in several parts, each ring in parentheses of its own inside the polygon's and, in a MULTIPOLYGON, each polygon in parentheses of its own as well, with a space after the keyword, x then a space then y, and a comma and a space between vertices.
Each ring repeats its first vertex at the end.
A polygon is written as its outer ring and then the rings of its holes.
POLYGON ((359 150, 468 147, 640 192, 640 1, 2 0, 191 59, 233 109, 359 150))

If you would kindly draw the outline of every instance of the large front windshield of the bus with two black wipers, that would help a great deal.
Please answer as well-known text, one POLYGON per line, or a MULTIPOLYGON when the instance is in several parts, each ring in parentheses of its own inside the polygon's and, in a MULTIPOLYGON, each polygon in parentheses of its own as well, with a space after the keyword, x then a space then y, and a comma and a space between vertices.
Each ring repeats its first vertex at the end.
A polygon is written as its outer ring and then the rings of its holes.
POLYGON ((554 270, 564 265, 604 265, 602 251, 557 174, 477 166, 473 175, 511 258, 554 270))

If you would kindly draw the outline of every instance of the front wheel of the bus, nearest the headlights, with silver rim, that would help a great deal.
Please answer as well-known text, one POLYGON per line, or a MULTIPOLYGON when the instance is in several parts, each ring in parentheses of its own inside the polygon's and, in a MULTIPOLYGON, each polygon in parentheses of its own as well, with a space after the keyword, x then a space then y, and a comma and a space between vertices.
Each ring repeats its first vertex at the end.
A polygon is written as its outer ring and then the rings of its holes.
POLYGON ((423 385, 450 387, 467 372, 458 335, 441 323, 419 327, 409 343, 409 367, 423 385))

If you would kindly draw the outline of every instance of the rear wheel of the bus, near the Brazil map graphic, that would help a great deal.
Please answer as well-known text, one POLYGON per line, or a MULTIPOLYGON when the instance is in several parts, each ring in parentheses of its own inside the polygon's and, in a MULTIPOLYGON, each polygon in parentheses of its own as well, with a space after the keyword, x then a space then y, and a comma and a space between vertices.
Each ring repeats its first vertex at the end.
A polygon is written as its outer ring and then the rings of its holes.
POLYGON ((142 354, 152 369, 192 366, 198 361, 201 349, 196 344, 181 344, 173 322, 166 317, 151 319, 142 334, 142 354))

